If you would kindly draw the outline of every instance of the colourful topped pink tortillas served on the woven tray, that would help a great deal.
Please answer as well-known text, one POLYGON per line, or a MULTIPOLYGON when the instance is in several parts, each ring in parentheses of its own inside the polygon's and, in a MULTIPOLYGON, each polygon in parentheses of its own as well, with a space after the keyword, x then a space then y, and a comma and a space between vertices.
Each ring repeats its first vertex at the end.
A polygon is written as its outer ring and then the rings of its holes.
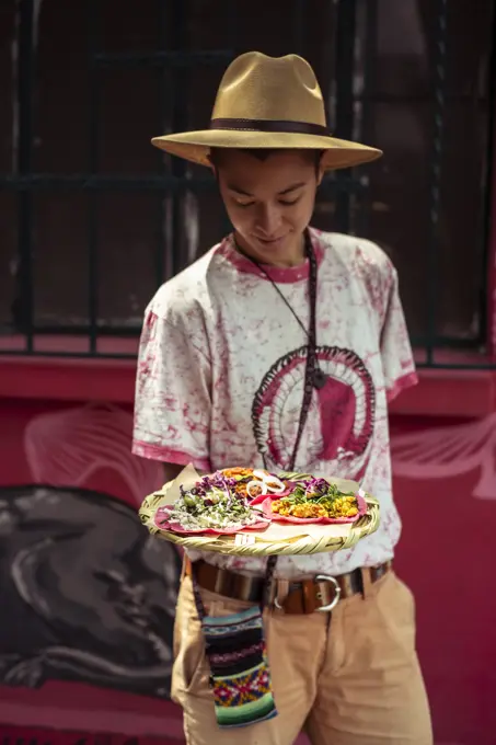
POLYGON ((265 530, 273 522, 353 523, 366 511, 360 494, 326 479, 240 467, 180 486, 180 498, 159 506, 154 524, 177 534, 222 535, 265 530))

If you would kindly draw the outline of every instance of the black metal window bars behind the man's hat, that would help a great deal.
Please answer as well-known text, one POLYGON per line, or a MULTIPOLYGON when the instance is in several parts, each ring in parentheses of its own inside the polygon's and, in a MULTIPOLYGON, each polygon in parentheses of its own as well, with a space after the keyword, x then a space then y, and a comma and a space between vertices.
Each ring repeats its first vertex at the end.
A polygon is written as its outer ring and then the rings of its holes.
MULTIPOLYGON (((36 173, 33 171, 33 140, 34 140, 34 101, 36 91, 36 51, 33 45, 33 33, 35 24, 35 0, 20 0, 19 18, 16 27, 16 42, 19 53, 18 66, 18 102, 19 102, 19 141, 16 152, 16 169, 13 174, 0 174, 0 187, 10 192, 15 192, 18 200, 18 257, 19 270, 16 273, 16 294, 13 306, 13 324, 11 333, 22 334, 25 340, 25 346, 22 351, 16 353, 31 354, 50 354, 49 352, 36 351, 34 340, 36 334, 41 332, 36 328, 34 321, 34 277, 33 277, 33 248, 34 248, 34 222, 33 222, 33 198, 35 192, 39 190, 84 190, 89 195, 86 230, 88 230, 88 256, 89 256, 89 277, 88 277, 88 326, 82 331, 88 335, 89 347, 84 356, 106 355, 97 349, 97 339, 105 334, 122 334, 122 335, 137 335, 139 329, 129 330, 112 326, 105 328, 99 321, 99 302, 97 302, 97 284, 99 284, 99 229, 97 229, 97 200, 99 195, 106 191, 125 192, 129 190, 143 190, 147 192, 155 192, 168 194, 172 202, 172 210, 168 215, 171 221, 170 230, 172 234, 180 233, 182 228, 181 219, 181 200, 187 192, 201 192, 204 190, 215 188, 214 180, 206 175, 205 177, 186 177, 185 165, 178 160, 174 159, 172 170, 170 172, 163 171, 157 175, 145 176, 125 176, 125 175, 108 175, 100 172, 99 169, 99 108, 100 108, 100 79, 103 68, 129 68, 129 67, 153 67, 159 69, 173 69, 177 82, 181 82, 182 71, 185 68, 195 68, 195 66, 210 66, 210 65, 227 65, 238 54, 239 49, 223 48, 217 50, 181 50, 181 39, 185 34, 187 3, 185 0, 163 0, 161 3, 164 7, 166 3, 174 5, 174 36, 176 39, 176 48, 171 50, 163 48, 150 53, 113 53, 105 51, 97 47, 99 35, 96 33, 99 19, 99 2, 91 0, 88 2, 89 9, 89 48, 90 48, 90 159, 89 169, 86 173, 78 174, 49 174, 36 173)), ((341 0, 336 5, 336 28, 334 32, 335 38, 335 55, 336 69, 339 74, 333 81, 333 114, 334 114, 334 130, 339 137, 353 137, 357 128, 357 116, 360 117, 361 130, 367 129, 367 122, 370 117, 370 111, 367 104, 367 96, 364 96, 361 108, 357 108, 356 95, 354 91, 354 65, 355 65, 355 44, 357 36, 357 14, 360 5, 359 0, 341 0)), ((226 33, 226 38, 229 41, 235 39, 235 18, 234 18, 234 2, 227 3, 230 8, 229 18, 226 23, 229 24, 230 31, 226 33)), ((304 0, 295 0, 292 3, 293 13, 293 30, 295 38, 292 48, 299 51, 302 46, 302 34, 304 33, 304 18, 305 18, 305 2, 304 0)), ((366 23, 367 37, 365 41, 365 82, 367 89, 367 77, 369 70, 373 69, 374 38, 377 36, 377 0, 367 0, 366 3, 366 23)), ((427 336, 423 340, 423 348, 425 358, 420 365, 435 367, 438 365, 435 358, 436 351, 436 317, 437 317, 437 289, 441 277, 439 276, 438 265, 438 242, 439 242, 439 211, 440 211, 440 188, 441 188, 441 169, 442 169, 442 153, 443 153, 443 138, 446 130, 446 65, 447 65, 447 45, 449 43, 447 30, 447 14, 448 0, 436 0, 436 25, 435 35, 431 39, 435 54, 431 58, 432 62, 432 142, 431 142, 431 168, 430 168, 430 249, 429 249, 429 272, 426 279, 426 303, 428 306, 428 329, 427 336)), ((164 20, 159 19, 159 23, 163 24, 164 20)), ((494 61, 494 60, 493 60, 494 61)), ((493 65, 494 68, 494 65, 493 65)), ((492 93, 495 92, 495 73, 493 71, 492 93)), ((185 113, 187 111, 187 92, 186 87, 182 84, 174 85, 174 96, 172 101, 172 114, 169 113, 169 122, 172 122, 174 129, 181 130, 187 127, 185 113)), ((165 119, 164 100, 161 102, 161 111, 165 119)), ((492 126, 492 122, 489 123, 492 126)), ((491 158, 488 158, 488 162, 491 158)), ((350 214, 351 203, 358 199, 364 205, 361 209, 361 217, 359 219, 367 219, 366 205, 369 199, 367 193, 368 180, 362 174, 355 174, 354 172, 337 172, 336 175, 328 177, 323 184, 323 194, 332 196, 335 204, 334 222, 335 229, 342 232, 350 230, 350 214)), ((485 225, 486 233, 483 237, 485 244, 487 244, 488 220, 489 220, 489 169, 486 173, 485 184, 485 225)), ((163 207, 162 207, 163 209, 163 207)), ((160 220, 165 220, 165 214, 162 211, 160 220)), ((185 264, 185 257, 177 251, 172 251, 168 257, 169 266, 164 265, 164 254, 162 251, 162 243, 159 241, 154 254, 154 267, 157 276, 157 286, 164 279, 164 275, 174 274, 180 271, 185 264)), ((484 267, 481 267, 484 277, 484 267)), ((486 298, 481 298, 481 317, 485 317, 486 298)), ((485 333, 485 329, 483 332, 485 333)), ((55 333, 71 333, 69 329, 60 328, 53 329, 55 333)), ((481 344, 482 345, 482 344, 481 344)), ((10 353, 11 349, 3 345, 1 353, 10 353)), ((55 353, 53 353, 55 354, 55 353)), ((60 352, 56 353, 62 354, 60 352)), ((72 353, 66 353, 72 354, 72 353)), ((81 356, 81 353, 79 353, 81 356)), ((112 356, 127 356, 115 355, 112 356)), ((443 367, 486 367, 482 362, 475 360, 472 363, 450 363, 443 364, 443 367)))

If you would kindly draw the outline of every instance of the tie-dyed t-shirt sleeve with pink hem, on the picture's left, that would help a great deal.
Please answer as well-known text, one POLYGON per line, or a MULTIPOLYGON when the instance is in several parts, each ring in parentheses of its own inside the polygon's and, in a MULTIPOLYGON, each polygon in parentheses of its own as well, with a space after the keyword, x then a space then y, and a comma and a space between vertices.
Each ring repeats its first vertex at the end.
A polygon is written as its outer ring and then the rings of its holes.
POLYGON ((132 452, 209 470, 211 366, 207 337, 188 318, 147 311, 140 339, 132 452))

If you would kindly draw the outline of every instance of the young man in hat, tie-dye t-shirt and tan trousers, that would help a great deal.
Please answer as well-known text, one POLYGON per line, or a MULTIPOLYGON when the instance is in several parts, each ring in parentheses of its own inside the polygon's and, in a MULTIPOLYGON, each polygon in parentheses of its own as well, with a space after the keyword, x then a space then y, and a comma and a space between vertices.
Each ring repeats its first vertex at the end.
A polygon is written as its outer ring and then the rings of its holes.
POLYGON ((290 745, 304 726, 313 745, 429 745, 414 600, 391 565, 388 400, 416 381, 396 274, 373 243, 308 228, 324 172, 381 153, 327 134, 303 59, 258 53, 227 70, 209 130, 153 144, 215 170, 234 231, 147 309, 134 451, 168 479, 188 462, 351 478, 382 517, 350 550, 279 558, 265 623, 279 715, 235 731, 216 722, 192 562, 222 616, 259 601, 266 560, 189 554, 172 686, 187 743, 290 745))

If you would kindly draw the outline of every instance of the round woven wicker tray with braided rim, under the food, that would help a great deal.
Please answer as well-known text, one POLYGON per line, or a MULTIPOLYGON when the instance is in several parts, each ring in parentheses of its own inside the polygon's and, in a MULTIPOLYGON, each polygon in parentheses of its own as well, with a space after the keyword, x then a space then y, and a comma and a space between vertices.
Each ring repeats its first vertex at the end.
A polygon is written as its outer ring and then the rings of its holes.
MULTIPOLYGON (((291 474, 285 474, 290 478, 291 474)), ((302 474, 298 474, 302 475, 302 474)), ((231 555, 295 555, 298 553, 322 553, 324 551, 341 551, 355 546, 361 538, 370 536, 379 527, 379 503, 370 494, 365 494, 367 513, 356 523, 333 525, 289 525, 273 523, 267 530, 255 532, 249 530, 230 536, 180 536, 170 530, 161 530, 153 523, 157 509, 171 504, 178 496, 180 484, 192 484, 199 477, 193 467, 188 466, 180 475, 161 490, 149 494, 139 509, 139 516, 151 535, 158 536, 186 549, 199 551, 215 551, 231 555)), ((354 481, 328 478, 343 490, 355 489, 359 485, 354 481)))

